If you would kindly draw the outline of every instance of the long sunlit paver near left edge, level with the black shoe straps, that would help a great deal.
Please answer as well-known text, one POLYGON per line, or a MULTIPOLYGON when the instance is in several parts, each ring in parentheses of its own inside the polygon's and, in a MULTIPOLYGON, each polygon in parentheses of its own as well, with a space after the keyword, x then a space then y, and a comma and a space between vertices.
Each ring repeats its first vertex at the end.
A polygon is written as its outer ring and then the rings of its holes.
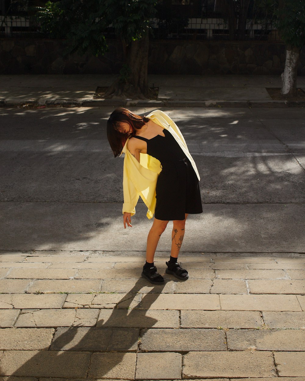
POLYGON ((73 279, 77 270, 64 269, 12 269, 6 278, 14 279, 73 279))

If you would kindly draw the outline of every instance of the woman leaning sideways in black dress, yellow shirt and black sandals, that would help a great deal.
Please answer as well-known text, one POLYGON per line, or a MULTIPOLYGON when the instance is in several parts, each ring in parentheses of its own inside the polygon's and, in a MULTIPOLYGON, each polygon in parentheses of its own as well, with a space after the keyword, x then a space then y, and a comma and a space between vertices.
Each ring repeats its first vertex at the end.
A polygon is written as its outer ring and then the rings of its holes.
POLYGON ((123 170, 123 223, 131 225, 131 216, 139 196, 148 207, 147 217, 155 214, 147 237, 146 262, 142 277, 163 284, 153 258, 168 221, 173 221, 171 255, 166 274, 187 280, 186 269, 178 263, 185 223, 189 213, 202 213, 195 162, 177 125, 161 110, 147 117, 119 108, 107 122, 107 138, 115 157, 125 154, 123 170))

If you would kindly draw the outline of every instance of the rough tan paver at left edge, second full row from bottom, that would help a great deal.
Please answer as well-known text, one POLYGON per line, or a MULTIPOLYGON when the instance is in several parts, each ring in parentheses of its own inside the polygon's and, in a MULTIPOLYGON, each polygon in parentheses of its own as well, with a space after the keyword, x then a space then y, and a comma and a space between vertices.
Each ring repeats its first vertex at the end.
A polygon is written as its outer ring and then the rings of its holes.
POLYGON ((53 328, 3 328, 0 330, 0 350, 47 349, 54 331, 53 328))

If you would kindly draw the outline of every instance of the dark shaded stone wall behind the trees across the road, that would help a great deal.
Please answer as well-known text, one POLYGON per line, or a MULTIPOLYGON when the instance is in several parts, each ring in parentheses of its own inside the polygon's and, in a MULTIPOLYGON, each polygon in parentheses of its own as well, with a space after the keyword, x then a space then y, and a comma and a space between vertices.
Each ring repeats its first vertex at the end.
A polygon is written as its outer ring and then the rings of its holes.
MULTIPOLYGON (((59 40, 0 39, 0 74, 116 74, 122 64, 121 45, 109 51, 63 56, 59 40)), ((149 74, 281 74, 285 46, 271 42, 151 41, 149 74)), ((305 48, 299 62, 305 75, 305 48)))

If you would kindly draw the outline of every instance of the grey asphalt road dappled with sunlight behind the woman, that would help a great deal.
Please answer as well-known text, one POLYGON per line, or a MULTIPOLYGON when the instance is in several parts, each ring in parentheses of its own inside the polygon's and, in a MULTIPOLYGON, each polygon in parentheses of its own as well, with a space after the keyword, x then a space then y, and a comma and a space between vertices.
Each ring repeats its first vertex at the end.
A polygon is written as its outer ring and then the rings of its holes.
MULTIPOLYGON (((106 136, 112 110, 0 109, 0 250, 145 251, 143 203, 123 228, 123 158, 106 136)), ((163 110, 201 176, 203 213, 187 221, 181 251, 304 252, 304 109, 163 110)))

